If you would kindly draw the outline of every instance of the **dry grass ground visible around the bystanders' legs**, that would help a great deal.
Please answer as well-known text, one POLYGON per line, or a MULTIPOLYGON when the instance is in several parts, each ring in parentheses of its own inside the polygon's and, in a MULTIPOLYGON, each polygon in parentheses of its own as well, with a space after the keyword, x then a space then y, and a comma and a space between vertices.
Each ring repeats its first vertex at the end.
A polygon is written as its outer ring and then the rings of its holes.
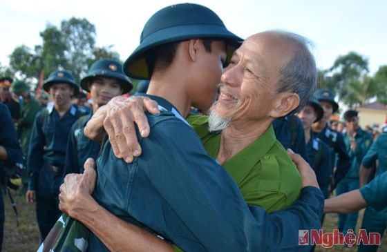
MULTIPOLYGON (((12 194, 15 194, 12 193, 12 194)), ((17 202, 17 211, 19 212, 19 227, 16 226, 15 213, 12 210, 8 195, 3 195, 4 204, 6 206, 6 223, 4 226, 3 251, 4 252, 29 252, 36 251, 40 245, 39 230, 35 217, 35 206, 26 204, 24 196, 14 195, 14 200, 17 202)), ((363 211, 360 212, 363 215, 363 211)), ((358 229, 360 226, 361 217, 358 221, 358 229)), ((337 226, 337 215, 325 215, 323 225, 324 232, 331 232, 337 226)), ((333 246, 330 249, 324 249, 317 246, 315 252, 355 252, 356 246, 346 249, 343 246, 333 246)), ((381 240, 381 246, 378 252, 387 251, 386 235, 381 240)))

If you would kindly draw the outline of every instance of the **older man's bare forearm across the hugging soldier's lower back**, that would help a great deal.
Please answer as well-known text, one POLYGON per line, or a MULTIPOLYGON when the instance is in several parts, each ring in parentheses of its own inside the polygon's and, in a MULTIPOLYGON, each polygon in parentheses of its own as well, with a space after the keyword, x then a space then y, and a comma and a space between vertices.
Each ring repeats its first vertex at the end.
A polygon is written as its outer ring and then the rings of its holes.
POLYGON ((70 214, 88 227, 110 251, 173 251, 172 246, 106 211, 90 196, 70 214))

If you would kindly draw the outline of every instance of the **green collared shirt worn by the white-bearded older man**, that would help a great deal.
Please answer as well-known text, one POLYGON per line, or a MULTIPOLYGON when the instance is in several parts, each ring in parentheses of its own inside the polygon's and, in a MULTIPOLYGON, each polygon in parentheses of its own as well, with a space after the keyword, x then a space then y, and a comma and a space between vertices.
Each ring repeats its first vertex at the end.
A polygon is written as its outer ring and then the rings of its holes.
MULTIPOLYGON (((191 114, 187 121, 207 153, 216 159, 221 134, 209 133, 208 117, 191 114)), ((268 213, 290 206, 299 197, 301 177, 276 140, 272 126, 222 166, 233 177, 247 204, 261 206, 268 213)))

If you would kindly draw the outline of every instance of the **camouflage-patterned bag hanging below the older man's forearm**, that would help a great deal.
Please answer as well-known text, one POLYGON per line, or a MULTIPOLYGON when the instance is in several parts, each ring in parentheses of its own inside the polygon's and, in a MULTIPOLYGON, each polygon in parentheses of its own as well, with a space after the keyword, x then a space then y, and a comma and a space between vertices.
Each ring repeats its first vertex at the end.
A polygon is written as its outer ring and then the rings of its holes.
POLYGON ((89 234, 84 224, 63 213, 37 252, 85 252, 89 234))

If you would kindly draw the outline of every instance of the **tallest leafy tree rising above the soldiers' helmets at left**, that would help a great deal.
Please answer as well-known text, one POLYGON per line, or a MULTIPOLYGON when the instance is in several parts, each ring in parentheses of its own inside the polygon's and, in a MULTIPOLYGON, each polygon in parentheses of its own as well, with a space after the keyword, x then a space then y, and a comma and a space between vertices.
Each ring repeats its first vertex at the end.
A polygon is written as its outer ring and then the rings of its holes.
POLYGON ((95 48, 95 26, 87 19, 75 17, 61 23, 62 42, 66 44, 64 56, 66 69, 73 73, 75 79, 81 79, 88 70, 88 62, 93 59, 95 48))

